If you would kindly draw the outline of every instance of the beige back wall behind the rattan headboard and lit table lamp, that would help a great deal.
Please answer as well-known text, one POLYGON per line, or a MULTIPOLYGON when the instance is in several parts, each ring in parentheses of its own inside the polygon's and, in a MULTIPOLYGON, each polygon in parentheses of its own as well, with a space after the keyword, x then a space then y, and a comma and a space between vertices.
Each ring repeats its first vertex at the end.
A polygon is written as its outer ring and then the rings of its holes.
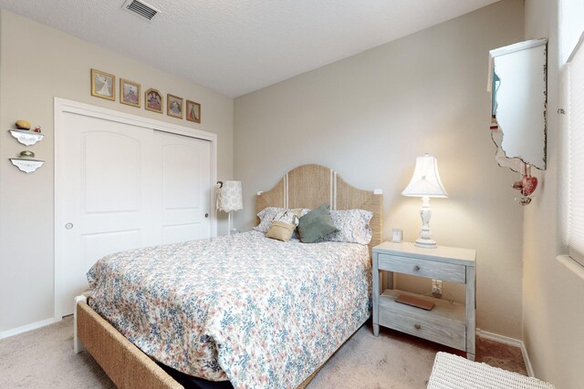
MULTIPOLYGON (((353 185, 383 189, 384 236, 417 237, 421 200, 401 196, 415 158, 438 158, 447 200, 431 201, 442 245, 477 251, 477 324, 521 337, 523 210, 516 175, 501 169, 488 124, 488 50, 523 38, 523 1, 505 0, 235 99, 236 225, 250 227, 254 194, 288 169, 319 163, 353 185)), ((430 292, 430 284, 401 280, 430 292)), ((460 296, 452 286, 445 297, 460 296)))

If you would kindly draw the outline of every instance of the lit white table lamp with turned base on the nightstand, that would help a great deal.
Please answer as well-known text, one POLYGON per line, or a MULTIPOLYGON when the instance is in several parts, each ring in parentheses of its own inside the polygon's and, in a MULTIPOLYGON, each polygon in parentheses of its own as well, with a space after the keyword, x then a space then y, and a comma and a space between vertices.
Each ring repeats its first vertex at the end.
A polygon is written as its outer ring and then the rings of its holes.
POLYGON ((430 198, 445 198, 448 193, 443 187, 438 173, 438 161, 427 153, 416 159, 416 167, 413 170, 412 180, 408 186, 401 192, 403 196, 421 197, 422 209, 420 217, 422 218, 422 230, 420 237, 416 240, 415 245, 425 249, 435 249, 438 247, 436 241, 432 239, 430 233, 430 198))

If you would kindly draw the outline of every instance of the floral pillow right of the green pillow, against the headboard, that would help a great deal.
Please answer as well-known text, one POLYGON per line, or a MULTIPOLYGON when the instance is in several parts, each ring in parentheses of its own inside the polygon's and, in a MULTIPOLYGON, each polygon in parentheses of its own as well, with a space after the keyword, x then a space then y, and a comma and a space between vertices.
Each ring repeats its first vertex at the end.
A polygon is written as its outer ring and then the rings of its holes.
POLYGON ((369 222, 373 212, 369 210, 331 210, 330 220, 337 228, 327 236, 326 241, 369 244, 373 232, 369 222))

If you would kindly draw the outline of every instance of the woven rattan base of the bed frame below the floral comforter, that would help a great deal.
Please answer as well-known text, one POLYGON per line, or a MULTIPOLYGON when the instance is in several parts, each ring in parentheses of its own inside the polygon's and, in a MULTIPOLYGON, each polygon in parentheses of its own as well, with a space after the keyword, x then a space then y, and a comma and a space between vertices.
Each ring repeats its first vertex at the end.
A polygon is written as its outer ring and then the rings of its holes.
MULTIPOLYGON (((77 302, 75 321, 77 327, 75 342, 83 343, 88 353, 120 389, 183 388, 183 385, 164 372, 148 355, 142 353, 138 347, 119 333, 110 322, 93 311, 86 302, 77 302)), ((305 389, 321 367, 310 374, 302 384, 298 385, 297 389, 305 389)))

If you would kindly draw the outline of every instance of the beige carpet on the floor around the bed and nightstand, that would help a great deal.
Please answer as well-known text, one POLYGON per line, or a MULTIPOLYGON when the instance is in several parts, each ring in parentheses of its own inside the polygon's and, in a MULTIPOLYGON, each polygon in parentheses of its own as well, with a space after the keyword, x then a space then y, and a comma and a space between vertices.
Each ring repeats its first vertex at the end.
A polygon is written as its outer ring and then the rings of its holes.
MULTIPOLYGON (((308 384, 320 388, 425 388, 436 343, 365 324, 308 384)), ((519 349, 477 338, 477 361, 526 374, 519 349)), ((73 353, 73 318, 0 341, 0 388, 113 388, 88 353, 73 353)))

